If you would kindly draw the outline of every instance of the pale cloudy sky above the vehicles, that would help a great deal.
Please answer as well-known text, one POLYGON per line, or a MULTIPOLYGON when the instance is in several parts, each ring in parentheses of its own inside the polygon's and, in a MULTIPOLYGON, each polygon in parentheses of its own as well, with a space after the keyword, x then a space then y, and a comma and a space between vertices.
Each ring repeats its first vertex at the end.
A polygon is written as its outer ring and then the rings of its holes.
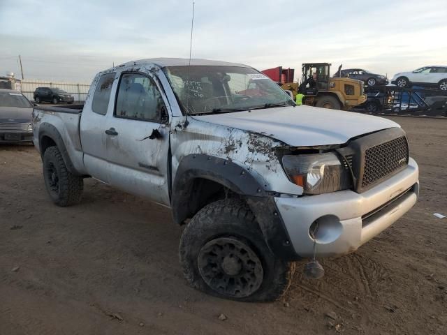
MULTIPOLYGON (((447 65, 447 0, 196 0, 193 58, 300 72, 447 65), (310 7, 307 7, 310 6, 310 7)), ((0 0, 0 75, 87 82, 135 59, 189 57, 192 0, 0 0)))

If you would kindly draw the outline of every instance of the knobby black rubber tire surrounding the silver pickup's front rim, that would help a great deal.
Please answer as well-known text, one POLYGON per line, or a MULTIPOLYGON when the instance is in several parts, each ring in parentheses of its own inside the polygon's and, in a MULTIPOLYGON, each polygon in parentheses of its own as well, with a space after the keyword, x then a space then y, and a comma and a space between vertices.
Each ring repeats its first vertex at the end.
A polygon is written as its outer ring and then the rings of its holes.
POLYGON ((287 290, 295 270, 295 263, 279 260, 272 254, 265 244, 253 213, 242 200, 218 200, 200 209, 183 231, 179 244, 179 258, 184 276, 193 288, 237 301, 278 299, 287 290), (205 244, 227 237, 247 245, 261 260, 262 282, 254 292, 244 297, 217 292, 200 274, 198 257, 205 244))

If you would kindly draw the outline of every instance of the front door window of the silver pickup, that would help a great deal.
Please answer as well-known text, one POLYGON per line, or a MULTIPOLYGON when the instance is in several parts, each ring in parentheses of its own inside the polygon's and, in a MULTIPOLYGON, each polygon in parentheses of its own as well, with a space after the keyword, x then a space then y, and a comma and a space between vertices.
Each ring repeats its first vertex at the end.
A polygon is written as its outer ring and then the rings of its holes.
POLYGON ((124 73, 119 81, 115 117, 160 122, 166 110, 155 82, 139 73, 124 73))

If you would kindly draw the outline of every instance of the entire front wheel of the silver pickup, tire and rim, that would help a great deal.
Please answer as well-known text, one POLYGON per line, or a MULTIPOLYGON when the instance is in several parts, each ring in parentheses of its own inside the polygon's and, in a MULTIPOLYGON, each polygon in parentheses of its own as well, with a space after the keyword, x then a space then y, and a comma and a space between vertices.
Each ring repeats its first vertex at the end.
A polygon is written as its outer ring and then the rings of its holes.
POLYGON ((294 263, 275 258, 247 204, 219 200, 192 218, 179 258, 189 284, 238 301, 272 301, 288 288, 294 263))

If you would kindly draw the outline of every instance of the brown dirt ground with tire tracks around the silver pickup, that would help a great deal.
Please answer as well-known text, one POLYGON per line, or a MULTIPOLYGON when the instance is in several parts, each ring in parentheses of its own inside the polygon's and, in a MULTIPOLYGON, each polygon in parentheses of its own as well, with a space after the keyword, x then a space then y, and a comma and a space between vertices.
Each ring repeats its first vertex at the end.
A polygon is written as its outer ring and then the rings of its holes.
POLYGON ((268 304, 189 288, 168 209, 93 179, 56 207, 34 147, 0 146, 0 334, 447 334, 447 218, 433 216, 447 215, 447 120, 390 119, 420 166, 418 204, 268 304))

